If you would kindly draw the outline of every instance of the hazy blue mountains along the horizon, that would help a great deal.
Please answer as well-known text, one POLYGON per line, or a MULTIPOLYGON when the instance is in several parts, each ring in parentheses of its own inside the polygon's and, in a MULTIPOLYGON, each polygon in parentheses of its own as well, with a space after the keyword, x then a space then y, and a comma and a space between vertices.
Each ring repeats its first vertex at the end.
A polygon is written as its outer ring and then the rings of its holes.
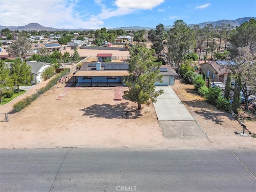
MULTIPOLYGON (((244 18, 238 18, 236 20, 218 20, 214 22, 204 22, 204 23, 199 23, 199 24, 188 24, 187 26, 194 26, 194 25, 199 25, 200 28, 206 26, 207 24, 212 24, 213 27, 215 26, 220 26, 222 23, 224 24, 230 24, 231 26, 240 26, 242 23, 249 21, 250 19, 256 19, 255 17, 244 17, 244 18)), ((1 26, 0 25, 0 30, 8 28, 11 31, 19 30, 19 31, 34 31, 34 30, 46 30, 46 31, 64 31, 64 30, 69 30, 69 31, 82 31, 82 30, 89 30, 89 29, 57 29, 57 28, 52 28, 52 27, 44 27, 38 23, 30 23, 25 26, 1 26)), ((171 25, 164 26, 165 29, 170 29, 172 28, 171 25)), ((119 27, 119 28, 111 28, 108 30, 150 30, 150 29, 155 29, 155 28, 150 28, 150 27, 140 27, 140 26, 130 26, 130 27, 119 27)))

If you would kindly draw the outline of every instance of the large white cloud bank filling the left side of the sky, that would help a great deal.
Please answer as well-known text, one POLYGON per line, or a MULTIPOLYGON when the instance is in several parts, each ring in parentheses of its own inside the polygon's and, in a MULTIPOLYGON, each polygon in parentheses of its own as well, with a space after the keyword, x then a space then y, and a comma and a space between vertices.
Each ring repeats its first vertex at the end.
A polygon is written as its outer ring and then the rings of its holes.
POLYGON ((78 0, 0 0, 2 26, 24 26, 35 22, 54 28, 98 29, 104 20, 131 14, 138 10, 152 10, 164 0, 116 0, 107 7, 95 0, 100 13, 89 14, 90 7, 78 7, 78 0), (88 10, 86 10, 88 9, 88 10))

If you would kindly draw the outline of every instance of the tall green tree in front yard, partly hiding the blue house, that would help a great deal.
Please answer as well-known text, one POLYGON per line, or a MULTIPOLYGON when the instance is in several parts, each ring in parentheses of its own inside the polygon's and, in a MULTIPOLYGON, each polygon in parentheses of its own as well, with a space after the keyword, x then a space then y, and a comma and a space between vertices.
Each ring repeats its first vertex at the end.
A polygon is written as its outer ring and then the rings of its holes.
POLYGON ((144 44, 136 44, 130 50, 130 60, 128 62, 129 73, 126 80, 126 86, 129 90, 124 94, 138 103, 138 110, 142 104, 156 102, 156 98, 163 93, 163 90, 155 90, 155 82, 162 82, 162 75, 159 74, 159 68, 162 62, 154 62, 153 49, 146 48, 144 44))

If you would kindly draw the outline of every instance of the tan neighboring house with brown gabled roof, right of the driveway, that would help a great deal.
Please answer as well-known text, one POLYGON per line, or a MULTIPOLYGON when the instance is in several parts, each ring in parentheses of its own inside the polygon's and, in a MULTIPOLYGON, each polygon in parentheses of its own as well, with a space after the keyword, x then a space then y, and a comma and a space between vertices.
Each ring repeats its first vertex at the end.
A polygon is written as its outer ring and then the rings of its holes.
MULTIPOLYGON (((204 62, 200 65, 200 74, 205 72, 206 77, 209 76, 211 78, 211 82, 218 81, 226 84, 226 80, 228 77, 228 64, 234 64, 233 61, 209 61, 204 62)), ((232 79, 231 82, 234 82, 232 79)))

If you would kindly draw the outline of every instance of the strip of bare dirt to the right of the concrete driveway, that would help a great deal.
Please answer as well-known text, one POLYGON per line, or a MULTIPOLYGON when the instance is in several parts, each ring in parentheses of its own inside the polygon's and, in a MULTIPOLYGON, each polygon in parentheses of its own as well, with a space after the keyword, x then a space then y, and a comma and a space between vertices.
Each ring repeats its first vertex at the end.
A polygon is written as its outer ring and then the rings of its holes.
MULTIPOLYGON (((217 110, 209 105, 204 98, 198 96, 194 85, 186 84, 183 79, 178 78, 172 88, 214 146, 220 148, 256 147, 256 138, 235 134, 235 132, 243 131, 238 121, 234 120, 230 113, 217 110)), ((255 121, 246 121, 244 124, 249 130, 256 133, 255 121)), ((248 131, 246 132, 248 133, 248 131)))

